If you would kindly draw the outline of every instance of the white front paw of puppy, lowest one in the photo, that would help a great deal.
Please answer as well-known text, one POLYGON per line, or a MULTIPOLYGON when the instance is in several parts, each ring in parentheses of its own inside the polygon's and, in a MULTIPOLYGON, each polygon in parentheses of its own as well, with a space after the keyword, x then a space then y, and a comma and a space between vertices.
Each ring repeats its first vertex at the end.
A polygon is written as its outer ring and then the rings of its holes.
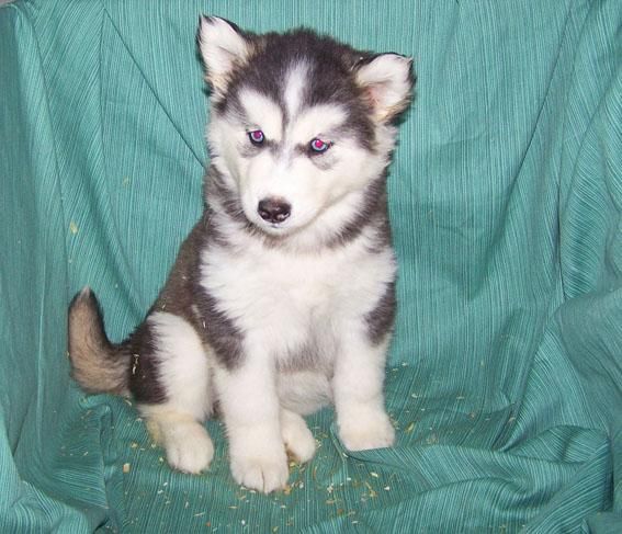
POLYGON ((283 489, 289 474, 284 451, 283 454, 231 457, 231 475, 236 482, 263 493, 283 489))

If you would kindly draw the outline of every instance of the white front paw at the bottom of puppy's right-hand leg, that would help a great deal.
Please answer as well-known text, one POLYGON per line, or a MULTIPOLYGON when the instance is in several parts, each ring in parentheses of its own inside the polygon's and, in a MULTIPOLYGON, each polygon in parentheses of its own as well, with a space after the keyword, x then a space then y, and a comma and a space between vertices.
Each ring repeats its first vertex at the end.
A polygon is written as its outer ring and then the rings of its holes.
POLYGON ((340 420, 339 438, 348 451, 389 447, 395 442, 395 429, 385 412, 373 410, 340 420))

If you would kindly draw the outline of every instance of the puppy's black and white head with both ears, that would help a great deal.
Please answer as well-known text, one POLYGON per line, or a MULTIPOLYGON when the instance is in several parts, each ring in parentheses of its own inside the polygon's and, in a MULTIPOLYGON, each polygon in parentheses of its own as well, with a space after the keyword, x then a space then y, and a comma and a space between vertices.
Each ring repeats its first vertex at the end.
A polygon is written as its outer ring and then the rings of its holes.
POLYGON ((212 162, 246 218, 272 236, 313 226, 382 175, 411 61, 310 32, 250 35, 203 18, 212 162))

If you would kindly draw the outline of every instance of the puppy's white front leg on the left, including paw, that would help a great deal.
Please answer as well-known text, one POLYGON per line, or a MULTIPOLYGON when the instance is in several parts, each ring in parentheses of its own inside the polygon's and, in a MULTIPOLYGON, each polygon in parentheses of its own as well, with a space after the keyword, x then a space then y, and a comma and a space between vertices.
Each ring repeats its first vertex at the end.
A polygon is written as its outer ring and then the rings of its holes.
POLYGON ((274 362, 255 351, 235 368, 217 371, 234 479, 269 493, 287 482, 274 362))

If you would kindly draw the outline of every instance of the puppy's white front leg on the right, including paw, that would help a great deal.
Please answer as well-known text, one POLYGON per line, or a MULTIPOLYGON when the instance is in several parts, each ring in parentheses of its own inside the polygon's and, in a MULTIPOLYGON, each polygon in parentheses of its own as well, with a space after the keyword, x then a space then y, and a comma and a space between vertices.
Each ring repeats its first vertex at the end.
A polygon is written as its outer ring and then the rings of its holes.
POLYGON ((374 344, 355 328, 344 332, 332 380, 339 436, 349 451, 388 447, 395 441, 383 394, 388 339, 374 344))

